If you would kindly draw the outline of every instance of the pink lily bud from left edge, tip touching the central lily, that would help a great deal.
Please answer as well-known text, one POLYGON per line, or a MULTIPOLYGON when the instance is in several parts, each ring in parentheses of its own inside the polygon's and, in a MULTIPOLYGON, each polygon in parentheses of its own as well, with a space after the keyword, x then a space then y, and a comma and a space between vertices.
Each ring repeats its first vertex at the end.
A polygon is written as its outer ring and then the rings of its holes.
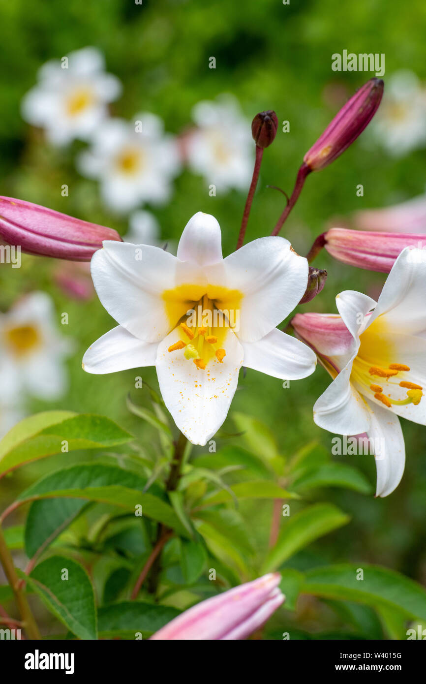
POLYGON ((24 200, 0 196, 0 237, 27 254, 90 261, 103 240, 121 241, 112 228, 72 218, 24 200))

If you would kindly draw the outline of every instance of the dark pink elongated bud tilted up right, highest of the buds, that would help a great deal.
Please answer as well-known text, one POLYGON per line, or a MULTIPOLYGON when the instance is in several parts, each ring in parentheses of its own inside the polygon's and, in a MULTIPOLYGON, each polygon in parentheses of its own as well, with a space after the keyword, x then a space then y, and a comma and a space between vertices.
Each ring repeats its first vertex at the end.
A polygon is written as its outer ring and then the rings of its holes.
POLYGON ((328 166, 364 131, 382 101, 383 88, 382 79, 370 79, 347 101, 304 156, 311 171, 328 166))

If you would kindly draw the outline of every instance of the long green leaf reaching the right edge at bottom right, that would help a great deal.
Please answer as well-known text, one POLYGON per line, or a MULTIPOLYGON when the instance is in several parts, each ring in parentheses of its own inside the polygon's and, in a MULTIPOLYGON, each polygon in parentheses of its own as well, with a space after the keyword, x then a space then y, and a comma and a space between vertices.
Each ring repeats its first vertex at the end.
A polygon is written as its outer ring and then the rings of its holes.
POLYGON ((372 607, 403 611, 409 618, 426 620, 425 589, 394 570, 364 563, 315 568, 306 573, 304 594, 359 601, 372 607), (364 579, 360 577, 363 572, 364 579))

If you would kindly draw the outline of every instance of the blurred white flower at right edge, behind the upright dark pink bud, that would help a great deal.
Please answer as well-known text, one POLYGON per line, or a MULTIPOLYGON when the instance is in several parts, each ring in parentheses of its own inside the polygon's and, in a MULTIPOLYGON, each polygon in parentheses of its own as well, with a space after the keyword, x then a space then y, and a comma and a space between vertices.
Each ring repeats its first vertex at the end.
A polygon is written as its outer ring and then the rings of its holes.
POLYGON ((397 71, 390 77, 373 126, 395 157, 426 146, 426 90, 412 71, 397 71))

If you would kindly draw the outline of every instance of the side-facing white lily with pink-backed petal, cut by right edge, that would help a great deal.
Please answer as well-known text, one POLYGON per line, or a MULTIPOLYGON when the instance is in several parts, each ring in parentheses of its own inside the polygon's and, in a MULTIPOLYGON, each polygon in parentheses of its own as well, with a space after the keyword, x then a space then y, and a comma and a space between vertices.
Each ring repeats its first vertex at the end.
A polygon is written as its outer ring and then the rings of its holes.
POLYGON ((426 425, 426 254, 406 248, 380 298, 345 291, 340 315, 297 314, 292 322, 333 382, 314 406, 320 428, 343 435, 367 433, 374 445, 376 496, 399 484, 405 446, 398 416, 426 425))

